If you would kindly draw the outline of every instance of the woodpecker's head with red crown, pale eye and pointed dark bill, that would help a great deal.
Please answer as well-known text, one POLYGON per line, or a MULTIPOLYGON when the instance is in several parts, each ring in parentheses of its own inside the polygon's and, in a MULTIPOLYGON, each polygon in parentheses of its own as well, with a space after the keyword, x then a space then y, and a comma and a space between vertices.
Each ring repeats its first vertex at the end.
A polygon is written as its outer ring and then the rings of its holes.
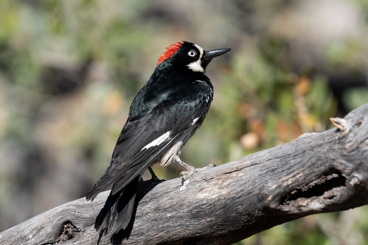
POLYGON ((177 42, 166 48, 166 51, 160 56, 157 66, 174 65, 180 68, 190 69, 194 72, 206 72, 206 67, 212 58, 222 55, 231 48, 222 48, 205 51, 197 44, 190 42, 177 42))

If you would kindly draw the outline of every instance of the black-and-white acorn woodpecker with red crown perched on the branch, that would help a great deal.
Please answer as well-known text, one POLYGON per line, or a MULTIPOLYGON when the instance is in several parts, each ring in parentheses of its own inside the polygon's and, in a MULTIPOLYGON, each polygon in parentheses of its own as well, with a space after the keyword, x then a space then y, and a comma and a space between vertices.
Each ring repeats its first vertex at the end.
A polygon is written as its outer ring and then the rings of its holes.
POLYGON ((223 48, 204 51, 197 44, 177 42, 166 48, 155 71, 134 98, 127 122, 117 140, 106 173, 88 192, 93 200, 113 184, 102 210, 100 231, 111 237, 128 226, 137 185, 154 163, 167 166, 176 162, 187 171, 180 173, 182 184, 195 168, 180 160, 181 148, 202 125, 213 97, 213 86, 204 74, 212 58, 230 51, 223 48))

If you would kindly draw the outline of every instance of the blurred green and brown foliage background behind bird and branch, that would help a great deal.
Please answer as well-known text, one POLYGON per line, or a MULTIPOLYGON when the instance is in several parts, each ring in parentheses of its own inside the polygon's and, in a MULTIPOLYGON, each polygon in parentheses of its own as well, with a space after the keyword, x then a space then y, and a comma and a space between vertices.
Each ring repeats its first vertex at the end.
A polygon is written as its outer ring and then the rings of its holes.
MULTIPOLYGON (((0 231, 85 197, 165 47, 231 48, 181 158, 220 165, 332 127, 368 102, 367 0, 3 0, 0 231)), ((179 165, 154 170, 173 179, 179 165)), ((145 179, 149 178, 149 174, 145 179)), ((368 244, 368 209, 308 216, 238 245, 368 244)))

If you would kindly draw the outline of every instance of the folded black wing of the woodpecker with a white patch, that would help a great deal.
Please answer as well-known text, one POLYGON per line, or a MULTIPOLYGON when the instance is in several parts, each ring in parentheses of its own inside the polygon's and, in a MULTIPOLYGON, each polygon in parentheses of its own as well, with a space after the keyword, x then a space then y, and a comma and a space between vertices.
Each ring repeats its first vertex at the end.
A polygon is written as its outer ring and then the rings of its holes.
POLYGON ((194 119, 205 116, 209 106, 204 101, 197 97, 179 102, 170 96, 145 116, 128 120, 120 133, 109 167, 89 191, 87 199, 95 198, 117 180, 120 186, 114 186, 114 192, 124 188, 160 154, 170 149, 176 139, 191 128, 194 119))

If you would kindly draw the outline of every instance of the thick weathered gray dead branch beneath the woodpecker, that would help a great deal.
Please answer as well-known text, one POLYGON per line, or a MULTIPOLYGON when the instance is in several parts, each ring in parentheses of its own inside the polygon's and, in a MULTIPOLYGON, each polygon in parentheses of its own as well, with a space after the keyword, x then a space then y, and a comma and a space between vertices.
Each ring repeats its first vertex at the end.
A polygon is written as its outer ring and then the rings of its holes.
MULTIPOLYGON (((366 205, 368 104, 331 120, 338 128, 196 173, 184 187, 178 178, 142 185, 134 225, 113 243, 233 244, 306 215, 366 205)), ((0 244, 97 244, 108 194, 33 217, 0 233, 0 244)))

